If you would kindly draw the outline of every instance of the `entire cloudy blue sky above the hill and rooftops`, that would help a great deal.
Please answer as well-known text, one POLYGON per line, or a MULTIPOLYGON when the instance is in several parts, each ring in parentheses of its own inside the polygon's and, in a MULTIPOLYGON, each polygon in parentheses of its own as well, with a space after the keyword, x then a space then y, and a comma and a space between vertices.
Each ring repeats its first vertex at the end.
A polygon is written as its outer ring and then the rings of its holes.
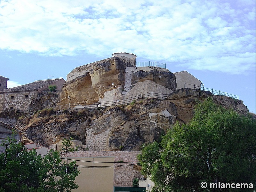
POLYGON ((0 75, 8 88, 66 79, 130 52, 239 95, 255 113, 255 23, 255 0, 0 0, 0 75))

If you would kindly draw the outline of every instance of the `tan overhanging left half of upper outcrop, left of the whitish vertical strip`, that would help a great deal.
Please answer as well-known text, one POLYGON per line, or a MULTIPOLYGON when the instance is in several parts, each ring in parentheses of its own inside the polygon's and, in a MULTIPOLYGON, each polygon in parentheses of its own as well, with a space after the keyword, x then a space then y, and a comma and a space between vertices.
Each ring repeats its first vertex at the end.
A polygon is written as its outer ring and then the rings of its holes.
POLYGON ((116 89, 125 82, 127 63, 119 57, 111 57, 88 65, 76 68, 68 74, 68 81, 62 87, 59 105, 69 102, 95 103, 104 97, 105 92, 116 89))

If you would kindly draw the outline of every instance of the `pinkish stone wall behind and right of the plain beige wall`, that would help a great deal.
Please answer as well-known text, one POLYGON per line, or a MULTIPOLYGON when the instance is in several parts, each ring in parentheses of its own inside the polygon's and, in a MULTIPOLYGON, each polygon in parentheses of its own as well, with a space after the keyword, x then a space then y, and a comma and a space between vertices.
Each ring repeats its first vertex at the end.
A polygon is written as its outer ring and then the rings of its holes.
POLYGON ((121 166, 116 165, 129 165, 136 164, 138 162, 138 154, 140 151, 75 151, 75 152, 63 152, 62 157, 115 157, 114 163, 114 186, 131 187, 132 180, 135 177, 139 179, 143 178, 143 175, 138 171, 137 165, 121 166), (123 163, 123 162, 135 162, 135 163, 123 163))

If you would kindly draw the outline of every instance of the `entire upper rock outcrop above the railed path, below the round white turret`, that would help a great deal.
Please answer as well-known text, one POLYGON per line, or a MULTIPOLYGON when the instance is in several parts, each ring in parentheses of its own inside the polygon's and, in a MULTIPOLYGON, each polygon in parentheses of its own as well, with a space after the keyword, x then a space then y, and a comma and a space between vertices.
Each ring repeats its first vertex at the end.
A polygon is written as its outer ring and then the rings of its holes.
POLYGON ((175 89, 175 75, 168 69, 136 68, 131 65, 129 58, 115 56, 71 71, 62 87, 58 105, 69 102, 90 105, 96 102, 122 100, 149 92, 170 94, 175 89))

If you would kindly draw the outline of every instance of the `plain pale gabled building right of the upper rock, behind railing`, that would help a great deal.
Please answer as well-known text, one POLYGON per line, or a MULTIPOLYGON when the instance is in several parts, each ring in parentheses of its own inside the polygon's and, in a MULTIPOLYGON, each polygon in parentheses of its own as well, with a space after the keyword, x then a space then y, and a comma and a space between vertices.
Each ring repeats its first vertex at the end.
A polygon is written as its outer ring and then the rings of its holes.
POLYGON ((188 73, 188 71, 175 72, 177 87, 176 90, 181 88, 200 89, 202 82, 196 77, 188 73))

